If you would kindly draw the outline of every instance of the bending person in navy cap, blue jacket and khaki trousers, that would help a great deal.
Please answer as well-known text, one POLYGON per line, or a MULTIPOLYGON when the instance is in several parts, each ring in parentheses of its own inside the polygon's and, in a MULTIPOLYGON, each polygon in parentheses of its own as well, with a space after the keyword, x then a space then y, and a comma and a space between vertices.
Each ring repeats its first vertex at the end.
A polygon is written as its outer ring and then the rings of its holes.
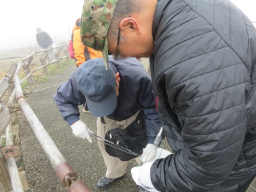
MULTIPOLYGON (((134 122, 140 109, 143 110, 148 136, 147 150, 143 150, 142 155, 143 162, 156 156, 157 146, 152 143, 161 125, 152 93, 151 78, 135 58, 119 61, 109 58, 108 70, 103 58, 86 61, 58 88, 54 99, 74 135, 87 139, 90 143, 92 131, 79 119, 77 108, 85 100, 90 113, 99 117, 97 134, 102 138, 106 132, 116 127, 125 129, 134 122), (104 122, 100 118, 103 116, 104 122)), ((125 175, 127 161, 109 156, 104 143, 98 143, 107 172, 97 182, 97 188, 106 189, 125 175)))

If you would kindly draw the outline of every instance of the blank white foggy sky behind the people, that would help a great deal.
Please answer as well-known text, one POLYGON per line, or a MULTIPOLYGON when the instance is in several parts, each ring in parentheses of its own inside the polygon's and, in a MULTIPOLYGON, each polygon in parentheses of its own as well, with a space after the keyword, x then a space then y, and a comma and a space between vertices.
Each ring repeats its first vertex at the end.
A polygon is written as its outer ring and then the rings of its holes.
MULTIPOLYGON (((255 0, 232 0, 256 21, 255 0)), ((36 45, 36 28, 57 41, 69 40, 84 0, 0 0, 0 50, 36 45)))

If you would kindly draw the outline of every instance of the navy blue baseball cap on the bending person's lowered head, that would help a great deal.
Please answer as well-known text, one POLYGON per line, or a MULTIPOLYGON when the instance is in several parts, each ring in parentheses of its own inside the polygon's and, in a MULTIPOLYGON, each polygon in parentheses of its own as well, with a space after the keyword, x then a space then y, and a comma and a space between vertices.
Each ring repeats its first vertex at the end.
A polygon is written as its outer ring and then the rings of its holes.
POLYGON ((107 116, 116 108, 115 72, 106 70, 103 58, 86 61, 77 68, 77 87, 93 116, 107 116))

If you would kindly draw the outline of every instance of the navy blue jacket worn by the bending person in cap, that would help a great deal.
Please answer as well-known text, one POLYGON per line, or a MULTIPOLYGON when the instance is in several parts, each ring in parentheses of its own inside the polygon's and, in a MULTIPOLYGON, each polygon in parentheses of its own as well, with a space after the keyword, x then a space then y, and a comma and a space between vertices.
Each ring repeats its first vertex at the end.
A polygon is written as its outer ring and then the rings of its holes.
MULTIPOLYGON (((141 63, 135 58, 115 61, 109 58, 109 65, 120 73, 119 96, 115 111, 107 116, 113 120, 125 120, 139 109, 145 114, 148 143, 153 143, 161 125, 156 111, 156 102, 152 93, 151 78, 141 63)), ((62 117, 72 125, 79 120, 78 105, 86 102, 83 93, 77 88, 76 71, 63 83, 53 96, 62 117)))

